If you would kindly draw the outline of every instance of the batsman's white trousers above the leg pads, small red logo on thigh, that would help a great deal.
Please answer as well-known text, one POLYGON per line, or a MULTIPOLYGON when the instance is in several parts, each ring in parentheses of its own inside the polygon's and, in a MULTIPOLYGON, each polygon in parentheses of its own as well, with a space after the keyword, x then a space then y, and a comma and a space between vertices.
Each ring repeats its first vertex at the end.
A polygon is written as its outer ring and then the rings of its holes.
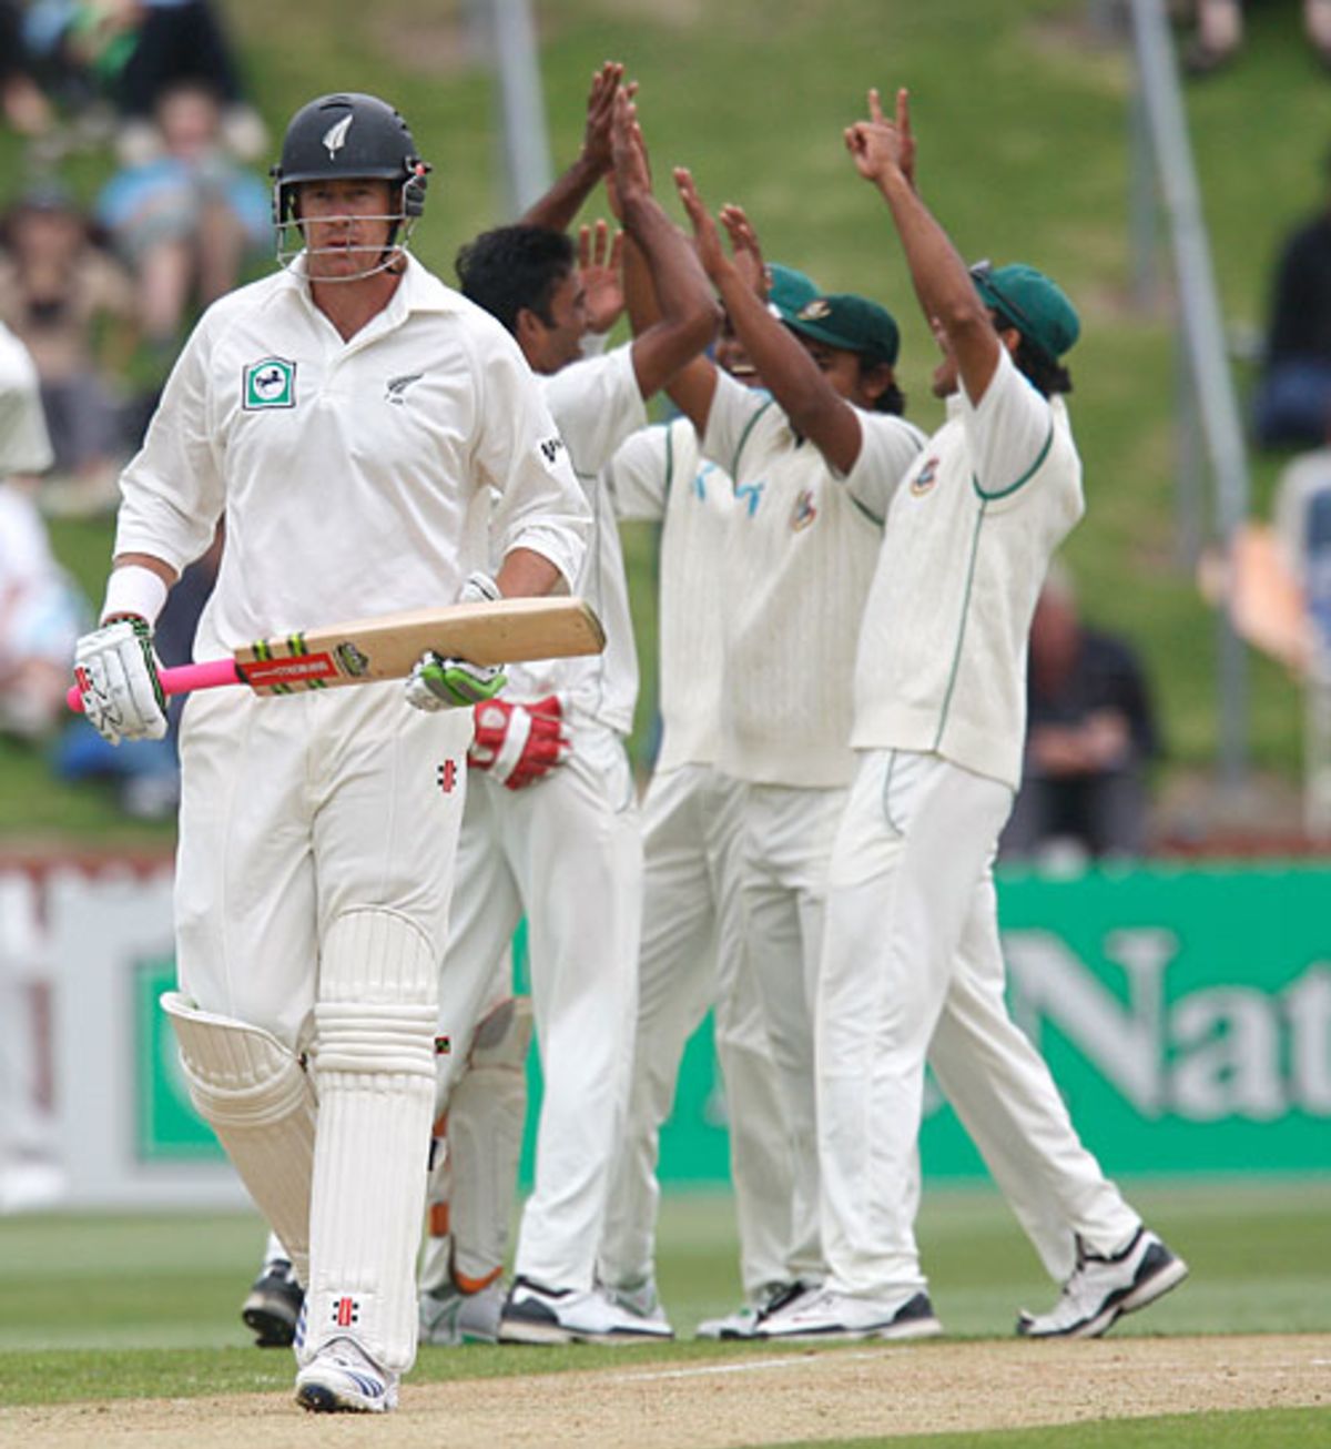
POLYGON ((348 910, 397 911, 442 952, 471 733, 469 710, 413 710, 395 682, 191 696, 175 862, 181 991, 300 1051, 324 933, 348 910))

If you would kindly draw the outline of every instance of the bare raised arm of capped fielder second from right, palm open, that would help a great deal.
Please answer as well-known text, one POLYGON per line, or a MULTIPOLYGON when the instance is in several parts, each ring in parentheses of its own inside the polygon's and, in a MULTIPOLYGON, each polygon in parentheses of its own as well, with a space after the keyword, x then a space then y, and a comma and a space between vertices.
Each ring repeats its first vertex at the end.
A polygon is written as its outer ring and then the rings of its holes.
MULTIPOLYGON (((698 256, 713 280, 730 325, 744 345, 750 362, 763 384, 781 404, 791 426, 810 442, 839 472, 850 472, 863 443, 860 420, 855 409, 818 371, 817 362, 791 333, 768 312, 766 303, 755 291, 744 271, 727 256, 715 222, 711 219, 692 175, 679 168, 675 184, 698 243, 698 256)), ((731 235, 752 232, 739 207, 727 207, 723 216, 731 235)), ((742 243, 742 251, 744 249, 742 243)), ((756 238, 753 243, 756 248, 756 238)))

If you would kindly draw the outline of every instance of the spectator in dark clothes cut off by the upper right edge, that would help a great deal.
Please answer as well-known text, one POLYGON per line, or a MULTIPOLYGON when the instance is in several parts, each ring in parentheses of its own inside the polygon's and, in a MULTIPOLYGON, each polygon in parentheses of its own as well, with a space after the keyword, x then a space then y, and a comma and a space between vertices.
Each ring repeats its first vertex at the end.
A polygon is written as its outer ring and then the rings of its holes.
MULTIPOLYGON (((1327 159, 1331 174, 1331 156, 1327 159)), ((1331 423, 1331 206, 1282 248, 1254 427, 1266 446, 1317 446, 1331 423)))

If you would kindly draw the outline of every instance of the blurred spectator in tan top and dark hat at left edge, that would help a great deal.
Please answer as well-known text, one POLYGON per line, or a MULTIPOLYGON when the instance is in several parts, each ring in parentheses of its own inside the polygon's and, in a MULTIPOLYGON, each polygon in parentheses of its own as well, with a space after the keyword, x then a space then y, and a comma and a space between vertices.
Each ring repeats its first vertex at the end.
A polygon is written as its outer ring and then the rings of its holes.
POLYGON ((55 468, 88 500, 85 511, 110 506, 126 439, 109 380, 123 375, 133 351, 133 283, 54 187, 7 212, 0 246, 0 320, 36 364, 55 468))

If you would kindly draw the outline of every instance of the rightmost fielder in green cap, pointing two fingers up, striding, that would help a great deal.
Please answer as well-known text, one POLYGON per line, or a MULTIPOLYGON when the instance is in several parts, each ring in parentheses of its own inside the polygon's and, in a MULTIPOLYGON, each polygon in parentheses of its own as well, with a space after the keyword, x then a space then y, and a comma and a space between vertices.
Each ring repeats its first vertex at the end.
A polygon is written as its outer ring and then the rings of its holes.
POLYGON ((1028 1337, 1093 1336, 1188 1272, 1107 1181, 1004 1001, 992 861, 1021 769, 1025 640, 1082 516, 1060 358, 1079 323, 1034 268, 967 272, 914 187, 905 91, 846 132, 886 199, 949 417, 892 500, 855 674, 859 769, 818 980, 823 1293, 766 1337, 941 1332, 914 1237, 925 1055, 1050 1274, 1028 1337))

